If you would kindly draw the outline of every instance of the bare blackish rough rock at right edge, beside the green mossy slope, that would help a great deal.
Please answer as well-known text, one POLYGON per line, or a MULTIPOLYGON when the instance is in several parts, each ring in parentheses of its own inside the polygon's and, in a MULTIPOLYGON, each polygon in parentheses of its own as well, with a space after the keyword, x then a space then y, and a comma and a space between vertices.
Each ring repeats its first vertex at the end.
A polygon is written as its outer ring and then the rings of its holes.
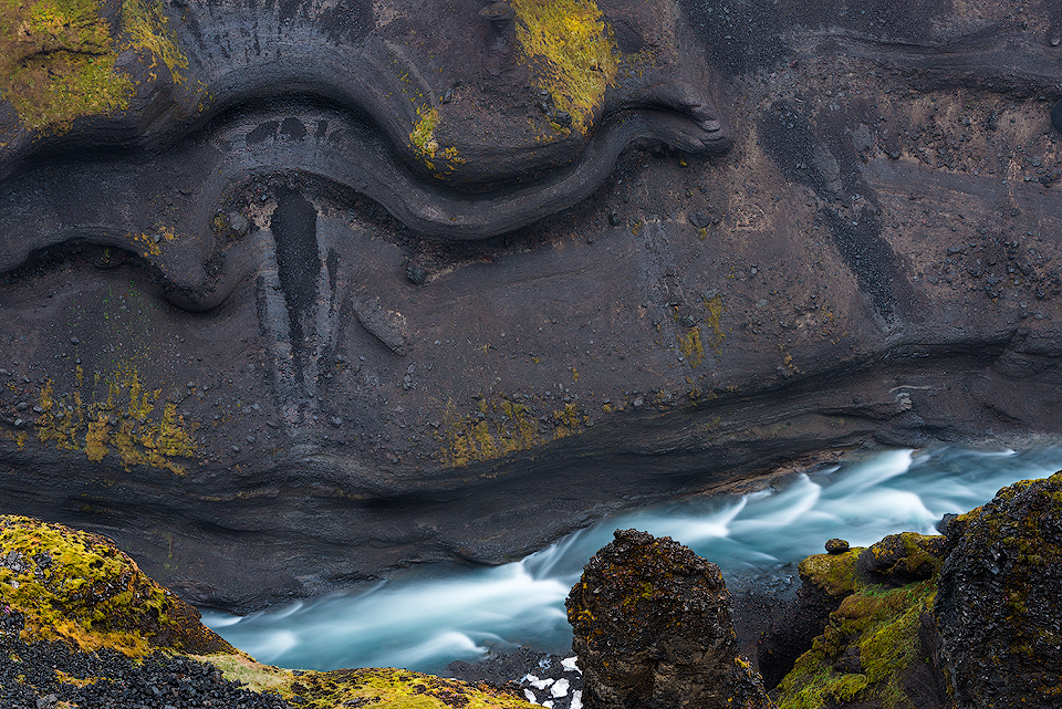
POLYGON ((1062 473, 1003 488, 959 521, 935 607, 956 706, 1058 707, 1062 473))

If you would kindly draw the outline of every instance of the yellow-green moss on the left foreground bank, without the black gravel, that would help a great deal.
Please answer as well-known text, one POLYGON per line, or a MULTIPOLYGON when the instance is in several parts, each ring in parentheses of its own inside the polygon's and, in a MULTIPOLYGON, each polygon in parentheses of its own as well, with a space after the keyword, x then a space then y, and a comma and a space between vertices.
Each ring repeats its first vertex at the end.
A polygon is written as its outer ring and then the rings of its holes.
MULTIPOLYGON (((59 640, 74 651, 111 649, 137 661, 158 650, 183 655, 308 709, 531 706, 513 692, 404 669, 295 672, 261 665, 205 627, 195 608, 147 577, 111 540, 25 517, 0 517, 0 611, 20 616, 28 644, 59 640)), ((45 671, 55 671, 61 684, 85 681, 62 668, 45 671)))

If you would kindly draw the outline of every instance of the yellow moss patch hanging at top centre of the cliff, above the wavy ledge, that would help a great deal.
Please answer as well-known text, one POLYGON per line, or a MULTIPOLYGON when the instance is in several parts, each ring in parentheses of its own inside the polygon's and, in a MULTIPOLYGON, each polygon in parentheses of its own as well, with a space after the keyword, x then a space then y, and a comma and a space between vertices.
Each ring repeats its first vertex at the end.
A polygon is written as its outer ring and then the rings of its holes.
POLYGON ((616 77, 615 42, 591 0, 512 0, 517 40, 532 81, 572 116, 583 135, 592 129, 605 90, 616 77))

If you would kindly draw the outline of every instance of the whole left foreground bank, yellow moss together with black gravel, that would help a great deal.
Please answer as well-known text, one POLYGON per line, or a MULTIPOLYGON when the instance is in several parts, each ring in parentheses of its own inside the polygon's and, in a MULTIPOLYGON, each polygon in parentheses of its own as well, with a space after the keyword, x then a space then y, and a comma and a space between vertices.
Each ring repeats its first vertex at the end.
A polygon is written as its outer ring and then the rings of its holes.
POLYGON ((0 706, 11 709, 530 706, 506 691, 400 669, 261 665, 205 627, 111 540, 24 517, 0 517, 0 706))

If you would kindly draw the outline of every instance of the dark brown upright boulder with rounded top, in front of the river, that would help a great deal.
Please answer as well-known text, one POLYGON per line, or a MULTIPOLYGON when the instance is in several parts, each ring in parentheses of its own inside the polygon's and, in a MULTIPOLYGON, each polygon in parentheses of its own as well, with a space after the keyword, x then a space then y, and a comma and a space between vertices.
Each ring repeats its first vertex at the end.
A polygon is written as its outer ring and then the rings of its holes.
POLYGON ((770 706, 719 567, 670 538, 617 530, 566 606, 587 709, 770 706))

